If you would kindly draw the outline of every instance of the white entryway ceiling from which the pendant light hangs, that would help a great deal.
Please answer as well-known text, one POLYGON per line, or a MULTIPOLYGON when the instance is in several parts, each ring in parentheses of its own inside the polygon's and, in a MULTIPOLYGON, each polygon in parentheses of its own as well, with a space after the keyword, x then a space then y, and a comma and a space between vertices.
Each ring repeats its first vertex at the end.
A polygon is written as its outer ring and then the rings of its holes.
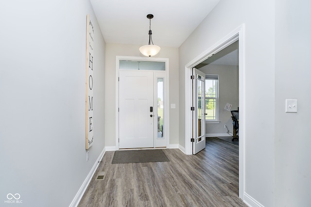
POLYGON ((90 0, 107 44, 179 48, 220 0, 90 0))

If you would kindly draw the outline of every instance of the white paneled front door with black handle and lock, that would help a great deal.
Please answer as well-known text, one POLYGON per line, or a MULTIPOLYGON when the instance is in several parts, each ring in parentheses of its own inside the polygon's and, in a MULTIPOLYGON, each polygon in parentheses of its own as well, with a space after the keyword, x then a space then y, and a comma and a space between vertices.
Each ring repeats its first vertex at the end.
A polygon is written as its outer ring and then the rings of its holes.
POLYGON ((119 148, 154 147, 154 73, 119 71, 119 148))

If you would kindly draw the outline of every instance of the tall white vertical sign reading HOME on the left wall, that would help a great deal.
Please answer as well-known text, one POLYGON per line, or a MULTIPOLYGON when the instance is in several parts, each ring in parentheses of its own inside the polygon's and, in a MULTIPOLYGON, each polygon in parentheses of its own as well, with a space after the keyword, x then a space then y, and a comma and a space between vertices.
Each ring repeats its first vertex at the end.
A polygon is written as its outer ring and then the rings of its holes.
POLYGON ((86 16, 86 149, 92 146, 93 136, 93 45, 94 27, 86 16))

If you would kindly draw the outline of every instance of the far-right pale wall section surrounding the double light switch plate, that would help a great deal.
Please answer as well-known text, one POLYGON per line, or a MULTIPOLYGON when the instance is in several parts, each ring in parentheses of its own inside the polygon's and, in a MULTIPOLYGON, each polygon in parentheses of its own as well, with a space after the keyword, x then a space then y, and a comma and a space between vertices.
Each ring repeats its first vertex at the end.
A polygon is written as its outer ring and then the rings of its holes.
POLYGON ((311 204, 311 1, 276 0, 276 207, 311 204), (285 112, 285 99, 298 112, 285 112))

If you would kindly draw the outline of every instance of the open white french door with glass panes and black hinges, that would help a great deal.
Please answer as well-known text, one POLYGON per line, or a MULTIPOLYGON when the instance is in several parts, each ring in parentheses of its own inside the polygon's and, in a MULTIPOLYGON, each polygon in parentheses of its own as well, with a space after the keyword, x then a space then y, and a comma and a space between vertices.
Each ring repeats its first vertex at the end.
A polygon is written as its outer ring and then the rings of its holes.
POLYGON ((205 148, 205 74, 195 68, 193 70, 193 143, 192 154, 205 148))

